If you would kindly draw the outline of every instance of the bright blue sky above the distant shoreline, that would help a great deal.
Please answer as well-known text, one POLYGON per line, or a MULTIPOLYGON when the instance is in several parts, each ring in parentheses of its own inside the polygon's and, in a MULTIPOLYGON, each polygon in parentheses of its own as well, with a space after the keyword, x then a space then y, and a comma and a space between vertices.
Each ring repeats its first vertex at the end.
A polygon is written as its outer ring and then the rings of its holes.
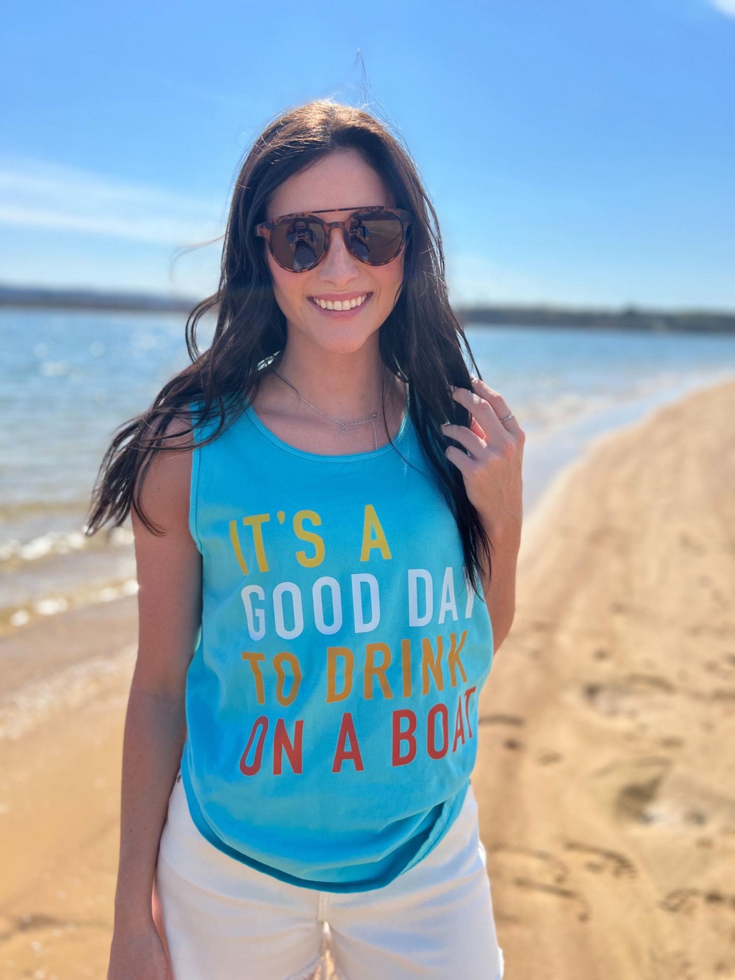
POLYGON ((406 138, 453 302, 735 308, 735 0, 40 0, 0 76, 2 282, 211 293, 220 243, 173 256, 333 96, 406 138))

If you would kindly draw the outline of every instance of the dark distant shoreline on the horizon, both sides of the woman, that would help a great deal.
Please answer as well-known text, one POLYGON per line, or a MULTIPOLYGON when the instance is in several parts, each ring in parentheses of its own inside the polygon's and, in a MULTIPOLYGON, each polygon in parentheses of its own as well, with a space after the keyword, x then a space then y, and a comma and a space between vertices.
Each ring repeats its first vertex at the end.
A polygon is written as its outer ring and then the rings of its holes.
MULTIPOLYGON (((0 285, 0 307, 124 313, 190 313, 201 299, 102 290, 0 285)), ((655 333, 733 333, 735 313, 704 310, 568 309, 550 306, 474 306, 455 310, 464 326, 543 326, 655 333)))

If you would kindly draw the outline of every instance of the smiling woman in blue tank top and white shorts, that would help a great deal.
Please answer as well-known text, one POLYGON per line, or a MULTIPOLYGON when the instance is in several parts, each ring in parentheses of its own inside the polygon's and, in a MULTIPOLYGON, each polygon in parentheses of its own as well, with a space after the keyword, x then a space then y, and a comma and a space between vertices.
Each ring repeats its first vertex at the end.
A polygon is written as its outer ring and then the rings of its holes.
POLYGON ((187 340, 88 521, 131 513, 139 583, 108 976, 309 977, 330 934, 347 980, 497 980, 469 774, 524 436, 385 126, 318 101, 266 128, 187 340))

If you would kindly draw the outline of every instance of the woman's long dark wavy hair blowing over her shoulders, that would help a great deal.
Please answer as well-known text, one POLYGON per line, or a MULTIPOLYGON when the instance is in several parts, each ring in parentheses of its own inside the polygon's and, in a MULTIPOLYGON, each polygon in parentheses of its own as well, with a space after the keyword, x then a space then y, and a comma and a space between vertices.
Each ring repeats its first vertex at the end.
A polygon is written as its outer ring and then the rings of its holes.
POLYGON ((182 435, 217 417, 208 438, 192 440, 188 445, 195 448, 212 442, 245 411, 264 372, 277 367, 286 344, 286 321, 273 295, 266 242, 256 237, 253 229, 266 220, 266 205, 276 187, 327 154, 341 150, 360 154, 392 192, 395 206, 408 209, 414 216, 399 297, 379 328, 383 417, 387 369, 409 385, 417 437, 429 471, 457 522, 471 587, 477 590, 480 562, 488 575, 491 573, 492 544, 467 499, 462 473, 445 455, 448 445, 459 443, 448 439, 440 428, 446 421, 470 423, 469 414, 452 398, 450 388, 471 387, 463 348, 475 376, 481 375, 449 303, 436 212, 402 137, 364 110, 328 99, 283 113, 264 129, 247 153, 223 235, 219 288, 198 303, 186 320, 191 364, 164 385, 149 409, 116 429, 92 490, 87 536, 108 521, 113 526, 122 524, 131 508, 149 531, 163 533, 145 515, 141 504, 143 478, 155 454, 180 450, 182 435), (214 340, 200 353, 197 324, 215 311, 214 340), (196 418, 189 411, 192 401, 201 406, 196 418), (174 420, 189 427, 178 428, 175 433, 167 431, 174 420), (176 443, 172 444, 174 438, 176 443))

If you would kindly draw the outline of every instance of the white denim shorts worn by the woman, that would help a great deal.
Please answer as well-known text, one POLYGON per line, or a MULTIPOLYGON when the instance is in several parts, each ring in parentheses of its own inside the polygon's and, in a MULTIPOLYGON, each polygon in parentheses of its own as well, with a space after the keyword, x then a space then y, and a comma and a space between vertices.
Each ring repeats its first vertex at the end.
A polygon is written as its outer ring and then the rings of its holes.
POLYGON ((308 980, 325 942, 340 980, 501 980, 485 859, 470 785, 439 844, 389 885, 299 888, 210 844, 179 777, 156 871, 173 980, 308 980))

